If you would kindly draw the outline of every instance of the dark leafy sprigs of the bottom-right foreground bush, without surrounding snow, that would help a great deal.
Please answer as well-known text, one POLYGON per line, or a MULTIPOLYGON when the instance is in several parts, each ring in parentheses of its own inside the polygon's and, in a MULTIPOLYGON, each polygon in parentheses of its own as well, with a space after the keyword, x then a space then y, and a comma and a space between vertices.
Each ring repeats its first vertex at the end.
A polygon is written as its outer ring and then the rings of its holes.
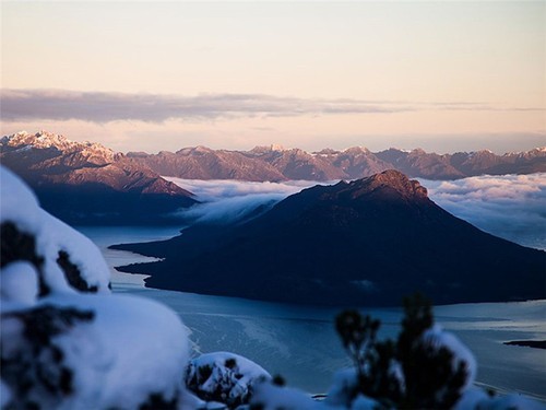
POLYGON ((358 377, 349 399, 364 394, 385 408, 452 407, 466 383, 467 370, 464 362, 453 368, 453 353, 423 338, 432 325, 430 302, 418 294, 404 301, 396 341, 377 340, 379 320, 357 311, 342 312, 335 326, 358 377))

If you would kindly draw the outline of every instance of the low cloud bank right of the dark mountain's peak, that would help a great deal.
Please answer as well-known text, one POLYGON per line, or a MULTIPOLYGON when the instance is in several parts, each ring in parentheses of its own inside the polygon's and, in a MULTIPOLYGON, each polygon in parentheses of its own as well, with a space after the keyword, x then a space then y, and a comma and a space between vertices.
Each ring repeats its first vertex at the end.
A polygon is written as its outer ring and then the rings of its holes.
POLYGON ((440 207, 521 245, 546 249, 546 174, 420 179, 440 207))

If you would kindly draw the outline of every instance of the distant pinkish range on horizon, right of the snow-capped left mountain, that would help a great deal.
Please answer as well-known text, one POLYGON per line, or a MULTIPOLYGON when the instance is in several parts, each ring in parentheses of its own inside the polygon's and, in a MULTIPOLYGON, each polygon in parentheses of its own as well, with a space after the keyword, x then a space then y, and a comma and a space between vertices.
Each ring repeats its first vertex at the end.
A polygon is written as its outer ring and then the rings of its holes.
POLYGON ((532 174, 546 172, 546 148, 524 153, 496 155, 490 151, 455 154, 427 153, 424 150, 389 149, 372 153, 354 147, 344 151, 324 149, 308 153, 280 145, 257 147, 250 151, 186 148, 176 153, 128 153, 165 176, 188 179, 271 180, 358 179, 387 169, 397 169, 411 177, 459 179, 491 174, 532 174))

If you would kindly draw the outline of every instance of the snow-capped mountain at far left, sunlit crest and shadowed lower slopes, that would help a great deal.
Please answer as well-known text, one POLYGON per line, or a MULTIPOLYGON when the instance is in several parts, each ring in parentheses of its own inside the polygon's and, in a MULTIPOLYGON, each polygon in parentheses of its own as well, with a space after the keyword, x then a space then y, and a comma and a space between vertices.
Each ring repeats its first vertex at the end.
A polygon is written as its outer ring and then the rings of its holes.
POLYGON ((41 206, 73 224, 157 223, 195 203, 191 192, 121 153, 40 131, 0 140, 0 161, 27 181, 41 206))

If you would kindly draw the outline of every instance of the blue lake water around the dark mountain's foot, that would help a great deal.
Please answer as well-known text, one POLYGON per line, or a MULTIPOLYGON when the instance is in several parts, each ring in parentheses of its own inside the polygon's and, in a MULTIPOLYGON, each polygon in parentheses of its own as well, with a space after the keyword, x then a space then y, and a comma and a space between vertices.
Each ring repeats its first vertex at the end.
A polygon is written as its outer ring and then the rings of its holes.
MULTIPOLYGON (((194 352, 230 351, 280 374, 293 387, 324 393, 336 370, 349 364, 335 335, 335 309, 292 306, 235 297, 143 288, 144 276, 119 273, 115 266, 154 260, 111 244, 177 235, 179 227, 79 227, 103 250, 112 270, 115 293, 151 297, 171 307, 191 331, 194 352)), ((399 332, 400 309, 367 309, 380 318, 381 337, 399 332)), ((453 331, 478 362, 477 380, 501 391, 546 401, 546 351, 505 345, 509 340, 546 339, 546 301, 437 306, 436 320, 453 331)))

